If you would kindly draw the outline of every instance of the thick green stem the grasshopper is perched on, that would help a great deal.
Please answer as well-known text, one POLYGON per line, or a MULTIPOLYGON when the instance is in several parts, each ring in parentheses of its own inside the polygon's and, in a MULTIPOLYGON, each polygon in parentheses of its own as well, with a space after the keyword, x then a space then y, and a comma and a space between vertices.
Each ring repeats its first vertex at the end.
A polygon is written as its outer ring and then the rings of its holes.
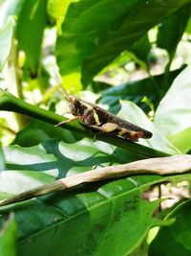
MULTIPOLYGON (((0 92, 0 110, 14 111, 20 114, 31 116, 33 118, 45 121, 50 124, 58 124, 65 120, 63 116, 57 115, 51 111, 40 108, 36 105, 30 105, 6 91, 0 92)), ((63 128, 73 130, 77 133, 83 134, 85 137, 90 137, 94 139, 94 134, 89 132, 89 128, 80 125, 79 122, 75 121, 70 124, 65 124, 63 128)), ((156 156, 167 156, 167 153, 162 151, 156 151, 137 143, 127 141, 118 137, 109 137, 105 135, 97 135, 97 138, 109 144, 113 144, 119 148, 125 149, 127 151, 133 151, 138 154, 144 155, 145 157, 156 157, 156 156)))

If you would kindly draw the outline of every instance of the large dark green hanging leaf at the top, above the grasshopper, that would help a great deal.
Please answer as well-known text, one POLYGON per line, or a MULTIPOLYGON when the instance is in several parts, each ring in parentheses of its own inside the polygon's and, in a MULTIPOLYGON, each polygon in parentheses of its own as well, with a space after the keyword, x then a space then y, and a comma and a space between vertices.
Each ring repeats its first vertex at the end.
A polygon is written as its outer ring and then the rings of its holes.
POLYGON ((55 47, 61 74, 79 71, 82 66, 83 80, 90 80, 162 18, 188 3, 190 0, 73 3, 55 47))

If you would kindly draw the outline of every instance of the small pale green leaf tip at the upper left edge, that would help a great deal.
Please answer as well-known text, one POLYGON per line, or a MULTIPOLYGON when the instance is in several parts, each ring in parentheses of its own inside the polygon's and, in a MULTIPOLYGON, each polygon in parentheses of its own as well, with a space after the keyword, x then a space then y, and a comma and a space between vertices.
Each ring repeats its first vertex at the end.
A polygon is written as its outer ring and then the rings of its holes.
POLYGON ((10 17, 6 25, 0 29, 0 71, 10 54, 13 27, 14 20, 10 17))

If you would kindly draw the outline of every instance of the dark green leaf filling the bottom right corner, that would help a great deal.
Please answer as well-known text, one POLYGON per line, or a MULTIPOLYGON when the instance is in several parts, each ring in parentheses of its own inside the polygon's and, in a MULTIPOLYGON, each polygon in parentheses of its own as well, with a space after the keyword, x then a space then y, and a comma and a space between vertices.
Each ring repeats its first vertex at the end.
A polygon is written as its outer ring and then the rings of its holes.
POLYGON ((150 256, 168 256, 169 252, 174 256, 191 255, 190 208, 191 200, 187 200, 167 216, 167 220, 174 218, 176 221, 160 228, 157 237, 150 244, 150 256))

